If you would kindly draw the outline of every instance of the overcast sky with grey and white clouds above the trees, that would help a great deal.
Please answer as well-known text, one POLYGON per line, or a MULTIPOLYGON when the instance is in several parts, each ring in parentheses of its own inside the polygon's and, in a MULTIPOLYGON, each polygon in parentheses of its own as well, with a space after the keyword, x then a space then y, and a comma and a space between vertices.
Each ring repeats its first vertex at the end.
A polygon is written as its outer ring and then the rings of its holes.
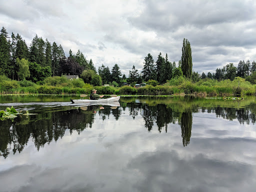
POLYGON ((215 72, 229 62, 256 60, 255 0, 0 0, 0 27, 29 45, 37 34, 78 49, 96 68, 117 63, 128 75, 144 57, 181 58, 190 42, 193 70, 215 72))

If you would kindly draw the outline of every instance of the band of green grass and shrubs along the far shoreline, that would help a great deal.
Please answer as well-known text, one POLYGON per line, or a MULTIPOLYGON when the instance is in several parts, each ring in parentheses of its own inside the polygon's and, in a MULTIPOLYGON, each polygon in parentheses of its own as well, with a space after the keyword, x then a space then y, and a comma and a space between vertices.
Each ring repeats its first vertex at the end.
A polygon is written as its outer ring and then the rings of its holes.
POLYGON ((92 86, 84 83, 82 79, 67 80, 64 76, 47 77, 40 83, 28 80, 11 80, 0 76, 0 94, 8 93, 43 93, 43 94, 90 94, 92 89, 97 89, 99 94, 139 94, 139 95, 244 95, 256 94, 256 85, 245 79, 236 77, 233 81, 201 79, 192 82, 184 77, 168 80, 163 85, 146 85, 140 88, 131 86, 92 86))

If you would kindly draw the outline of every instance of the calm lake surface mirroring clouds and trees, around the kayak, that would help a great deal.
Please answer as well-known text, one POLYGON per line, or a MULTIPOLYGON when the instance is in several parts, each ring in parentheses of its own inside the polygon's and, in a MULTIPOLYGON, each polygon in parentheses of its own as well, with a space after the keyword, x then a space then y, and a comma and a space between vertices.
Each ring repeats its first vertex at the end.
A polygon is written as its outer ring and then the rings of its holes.
POLYGON ((0 96, 0 191, 255 191, 256 101, 0 96), (104 108, 102 108, 104 107, 104 108))

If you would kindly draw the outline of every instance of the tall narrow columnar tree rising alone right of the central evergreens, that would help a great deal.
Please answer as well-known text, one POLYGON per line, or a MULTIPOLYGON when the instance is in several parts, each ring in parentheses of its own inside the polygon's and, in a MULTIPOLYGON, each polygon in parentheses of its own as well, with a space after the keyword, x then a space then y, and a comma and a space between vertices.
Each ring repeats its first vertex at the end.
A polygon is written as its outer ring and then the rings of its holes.
POLYGON ((192 54, 190 42, 183 39, 182 55, 181 55, 181 69, 185 77, 190 78, 192 75, 192 54))

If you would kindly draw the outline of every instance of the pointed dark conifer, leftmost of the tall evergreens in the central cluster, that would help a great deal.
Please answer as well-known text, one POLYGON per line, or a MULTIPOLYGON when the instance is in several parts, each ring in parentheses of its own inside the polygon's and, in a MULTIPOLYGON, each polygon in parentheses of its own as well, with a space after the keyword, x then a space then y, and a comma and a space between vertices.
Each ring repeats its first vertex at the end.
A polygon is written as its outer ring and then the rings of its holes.
POLYGON ((142 69, 142 79, 144 81, 148 81, 150 79, 155 80, 156 79, 156 73, 155 73, 155 66, 154 66, 154 59, 150 53, 147 54, 147 56, 144 58, 144 66, 142 69))

